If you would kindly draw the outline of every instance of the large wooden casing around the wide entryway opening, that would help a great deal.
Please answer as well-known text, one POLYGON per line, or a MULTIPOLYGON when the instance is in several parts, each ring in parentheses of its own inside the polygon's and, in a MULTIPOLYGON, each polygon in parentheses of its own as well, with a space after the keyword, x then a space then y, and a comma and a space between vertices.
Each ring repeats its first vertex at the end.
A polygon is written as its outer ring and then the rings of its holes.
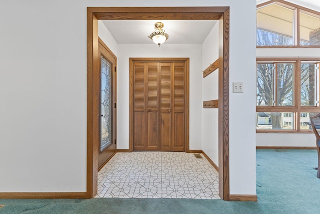
MULTIPOLYGON (((93 70, 98 69, 98 20, 219 20, 219 195, 229 200, 229 7, 87 8, 86 196, 97 192, 93 70)), ((214 60, 214 59, 212 59, 214 60)))

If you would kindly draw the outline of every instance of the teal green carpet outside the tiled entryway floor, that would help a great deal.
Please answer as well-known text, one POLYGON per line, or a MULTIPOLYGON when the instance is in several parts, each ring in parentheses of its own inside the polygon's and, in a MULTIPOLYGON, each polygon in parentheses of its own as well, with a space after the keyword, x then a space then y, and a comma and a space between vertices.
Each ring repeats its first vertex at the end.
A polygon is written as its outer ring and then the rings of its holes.
POLYGON ((0 213, 320 213, 316 150, 257 150, 257 202, 204 199, 0 199, 0 213))

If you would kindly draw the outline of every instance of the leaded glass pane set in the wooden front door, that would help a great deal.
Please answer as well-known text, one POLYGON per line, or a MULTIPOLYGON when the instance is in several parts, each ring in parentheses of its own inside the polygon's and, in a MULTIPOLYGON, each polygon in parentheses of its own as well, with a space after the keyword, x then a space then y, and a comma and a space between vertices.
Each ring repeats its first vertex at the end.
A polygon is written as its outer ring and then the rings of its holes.
POLYGON ((112 142, 111 64, 101 56, 100 83, 100 152, 112 142))

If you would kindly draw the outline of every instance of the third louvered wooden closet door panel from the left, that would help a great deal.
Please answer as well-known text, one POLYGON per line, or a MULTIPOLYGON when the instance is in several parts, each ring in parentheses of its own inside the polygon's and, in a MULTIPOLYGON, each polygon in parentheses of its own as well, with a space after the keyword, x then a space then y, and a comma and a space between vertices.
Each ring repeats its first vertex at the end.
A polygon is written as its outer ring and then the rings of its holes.
POLYGON ((160 63, 160 151, 171 151, 172 146, 172 63, 160 63))

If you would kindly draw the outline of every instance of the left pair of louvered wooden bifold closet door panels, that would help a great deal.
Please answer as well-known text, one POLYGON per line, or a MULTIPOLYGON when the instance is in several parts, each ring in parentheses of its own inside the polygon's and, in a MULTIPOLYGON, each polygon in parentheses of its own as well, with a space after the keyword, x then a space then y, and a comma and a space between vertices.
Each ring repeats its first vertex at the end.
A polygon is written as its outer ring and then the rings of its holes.
POLYGON ((158 63, 133 66, 133 149, 158 151, 158 63))

